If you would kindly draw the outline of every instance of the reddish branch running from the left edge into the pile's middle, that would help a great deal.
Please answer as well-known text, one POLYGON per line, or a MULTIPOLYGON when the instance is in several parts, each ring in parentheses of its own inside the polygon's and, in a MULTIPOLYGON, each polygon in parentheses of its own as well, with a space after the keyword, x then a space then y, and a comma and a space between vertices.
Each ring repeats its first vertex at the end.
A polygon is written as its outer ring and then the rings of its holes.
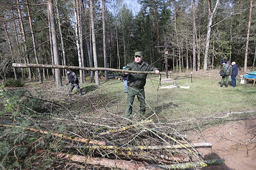
POLYGON ((57 136, 60 138, 68 139, 70 141, 77 141, 77 142, 81 142, 81 143, 92 143, 92 144, 96 144, 96 145, 106 145, 106 143, 104 141, 97 141, 97 140, 78 138, 78 137, 72 138, 70 136, 65 136, 64 134, 42 131, 42 130, 38 130, 38 129, 33 129, 31 127, 21 127, 18 125, 4 125, 4 124, 0 124, 0 127, 19 127, 19 128, 23 128, 23 129, 26 129, 29 131, 33 131, 33 132, 40 132, 41 134, 51 134, 52 136, 57 136))

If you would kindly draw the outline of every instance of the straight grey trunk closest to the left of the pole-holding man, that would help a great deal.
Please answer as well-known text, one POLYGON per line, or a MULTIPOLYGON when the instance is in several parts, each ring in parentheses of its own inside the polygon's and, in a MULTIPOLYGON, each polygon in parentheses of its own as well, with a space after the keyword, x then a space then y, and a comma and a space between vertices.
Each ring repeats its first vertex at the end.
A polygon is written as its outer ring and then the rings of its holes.
MULTIPOLYGON (((102 0, 102 27, 103 27, 103 53, 104 53, 104 67, 108 68, 108 55, 106 45, 106 0, 102 0)), ((108 81, 108 71, 105 71, 105 81, 108 81)))

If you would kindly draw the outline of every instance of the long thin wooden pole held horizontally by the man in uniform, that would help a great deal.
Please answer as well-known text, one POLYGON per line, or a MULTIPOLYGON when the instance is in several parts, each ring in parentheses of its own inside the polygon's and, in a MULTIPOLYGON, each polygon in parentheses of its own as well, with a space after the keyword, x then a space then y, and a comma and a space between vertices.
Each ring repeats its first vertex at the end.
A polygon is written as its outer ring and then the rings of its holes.
MULTIPOLYGON (((126 73, 138 73, 138 74, 156 74, 155 71, 131 71, 125 69, 112 69, 104 67, 77 67, 77 66, 60 66, 60 65, 50 65, 50 64, 22 64, 13 63, 13 67, 36 67, 36 68, 54 68, 54 69, 82 69, 88 71, 115 71, 115 72, 126 72, 126 73)), ((165 73, 159 73, 165 74, 165 73)))

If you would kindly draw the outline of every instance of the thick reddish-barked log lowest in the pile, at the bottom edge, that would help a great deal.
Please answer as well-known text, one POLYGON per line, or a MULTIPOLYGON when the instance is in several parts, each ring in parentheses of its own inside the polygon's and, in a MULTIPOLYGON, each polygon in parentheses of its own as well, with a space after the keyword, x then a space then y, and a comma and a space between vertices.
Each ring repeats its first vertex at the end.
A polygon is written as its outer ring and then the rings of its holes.
POLYGON ((64 158, 69 159, 76 162, 82 162, 86 164, 91 165, 100 165, 105 167, 111 167, 111 168, 121 168, 121 169, 149 169, 149 170, 160 170, 163 169, 162 167, 154 167, 154 166, 148 166, 141 162, 135 162, 135 161, 127 161, 127 160, 114 160, 114 159, 105 159, 105 158, 97 158, 97 157, 85 157, 81 155, 72 155, 68 153, 54 153, 52 152, 52 155, 55 155, 58 158, 64 158))

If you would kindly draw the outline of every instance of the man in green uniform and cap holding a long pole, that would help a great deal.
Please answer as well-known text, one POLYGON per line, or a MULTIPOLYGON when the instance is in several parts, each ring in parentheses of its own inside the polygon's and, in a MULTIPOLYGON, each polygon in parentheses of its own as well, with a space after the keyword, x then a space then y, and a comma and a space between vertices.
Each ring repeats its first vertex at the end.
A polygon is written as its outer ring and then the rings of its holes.
MULTIPOLYGON (((142 52, 135 52, 134 61, 127 64, 125 69, 131 71, 155 71, 156 74, 159 74, 157 67, 150 66, 146 62, 143 62, 142 58, 142 52)), ((145 115, 146 103, 144 86, 146 84, 147 74, 124 73, 122 76, 128 76, 127 83, 129 89, 127 93, 127 105, 124 117, 132 118, 132 104, 135 96, 137 96, 140 101, 140 114, 145 115)))

